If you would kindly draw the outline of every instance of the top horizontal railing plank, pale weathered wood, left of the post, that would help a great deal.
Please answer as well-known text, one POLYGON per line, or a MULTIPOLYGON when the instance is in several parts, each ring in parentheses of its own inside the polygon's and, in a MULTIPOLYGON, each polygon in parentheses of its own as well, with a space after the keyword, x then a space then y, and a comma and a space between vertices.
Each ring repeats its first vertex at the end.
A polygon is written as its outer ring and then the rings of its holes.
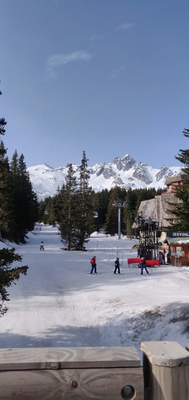
POLYGON ((0 370, 139 367, 134 347, 0 349, 0 370))

